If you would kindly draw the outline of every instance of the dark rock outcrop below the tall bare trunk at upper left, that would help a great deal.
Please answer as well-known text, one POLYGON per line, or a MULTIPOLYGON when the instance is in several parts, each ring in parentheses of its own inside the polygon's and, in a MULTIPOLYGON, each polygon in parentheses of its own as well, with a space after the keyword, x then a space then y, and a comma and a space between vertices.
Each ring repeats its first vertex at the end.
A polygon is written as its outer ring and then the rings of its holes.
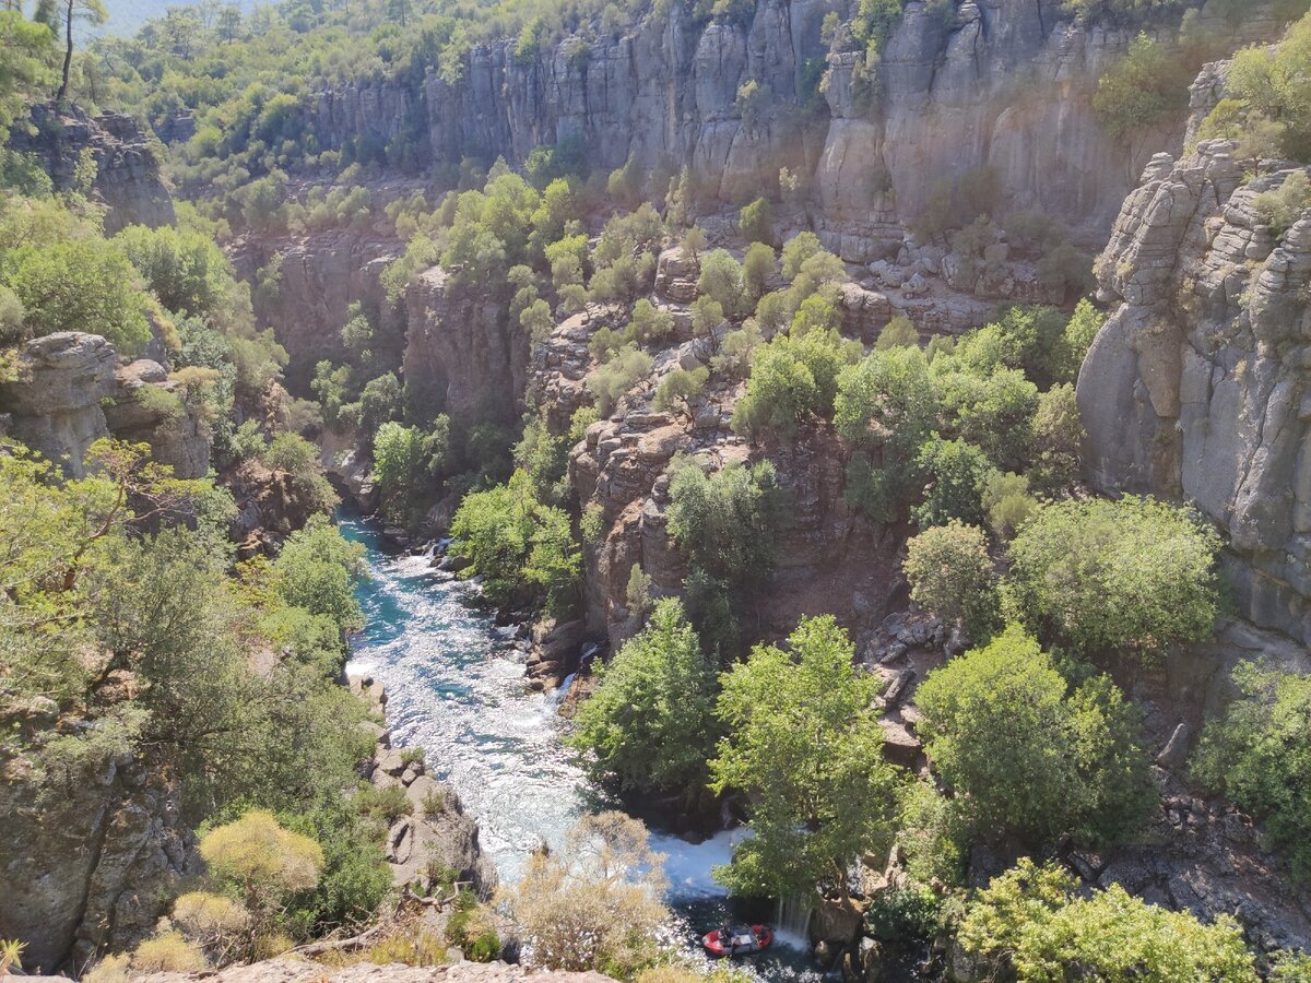
POLYGON ((31 128, 16 126, 9 145, 34 153, 54 181, 55 190, 77 187, 75 168, 84 151, 96 163, 92 194, 109 206, 105 231, 127 225, 169 225, 173 197, 160 174, 160 157, 142 127, 130 115, 101 113, 92 117, 77 106, 58 110, 31 107, 31 128))

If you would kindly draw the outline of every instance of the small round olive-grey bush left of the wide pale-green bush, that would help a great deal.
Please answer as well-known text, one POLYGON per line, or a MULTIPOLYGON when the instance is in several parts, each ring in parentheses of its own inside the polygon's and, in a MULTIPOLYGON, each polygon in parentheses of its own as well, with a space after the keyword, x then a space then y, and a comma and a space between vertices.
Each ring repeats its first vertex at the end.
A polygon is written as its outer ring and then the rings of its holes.
POLYGON ((964 624, 971 638, 987 638, 999 606, 996 571, 981 528, 952 519, 926 530, 906 544, 902 571, 916 604, 948 624, 964 624))

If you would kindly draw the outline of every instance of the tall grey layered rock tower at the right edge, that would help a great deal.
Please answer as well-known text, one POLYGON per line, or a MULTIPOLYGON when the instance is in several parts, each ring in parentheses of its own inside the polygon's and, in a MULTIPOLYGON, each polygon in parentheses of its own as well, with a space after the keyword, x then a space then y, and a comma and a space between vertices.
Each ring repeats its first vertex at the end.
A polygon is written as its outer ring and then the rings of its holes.
POLYGON ((1159 155, 1097 261, 1114 312, 1079 375, 1089 476, 1183 498, 1228 536, 1240 613, 1311 641, 1311 211, 1289 229, 1231 144, 1159 155))

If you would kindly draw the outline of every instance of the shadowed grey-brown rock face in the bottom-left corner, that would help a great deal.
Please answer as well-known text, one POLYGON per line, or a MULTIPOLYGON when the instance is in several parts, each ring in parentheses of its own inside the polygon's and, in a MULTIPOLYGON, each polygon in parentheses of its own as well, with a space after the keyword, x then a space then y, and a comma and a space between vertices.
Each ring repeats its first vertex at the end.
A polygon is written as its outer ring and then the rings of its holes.
POLYGON ((0 841, 22 844, 0 852, 0 937, 26 940, 24 966, 46 973, 134 946, 153 932, 160 899, 197 873, 165 775, 128 759, 79 779, 54 802, 0 781, 0 841))

